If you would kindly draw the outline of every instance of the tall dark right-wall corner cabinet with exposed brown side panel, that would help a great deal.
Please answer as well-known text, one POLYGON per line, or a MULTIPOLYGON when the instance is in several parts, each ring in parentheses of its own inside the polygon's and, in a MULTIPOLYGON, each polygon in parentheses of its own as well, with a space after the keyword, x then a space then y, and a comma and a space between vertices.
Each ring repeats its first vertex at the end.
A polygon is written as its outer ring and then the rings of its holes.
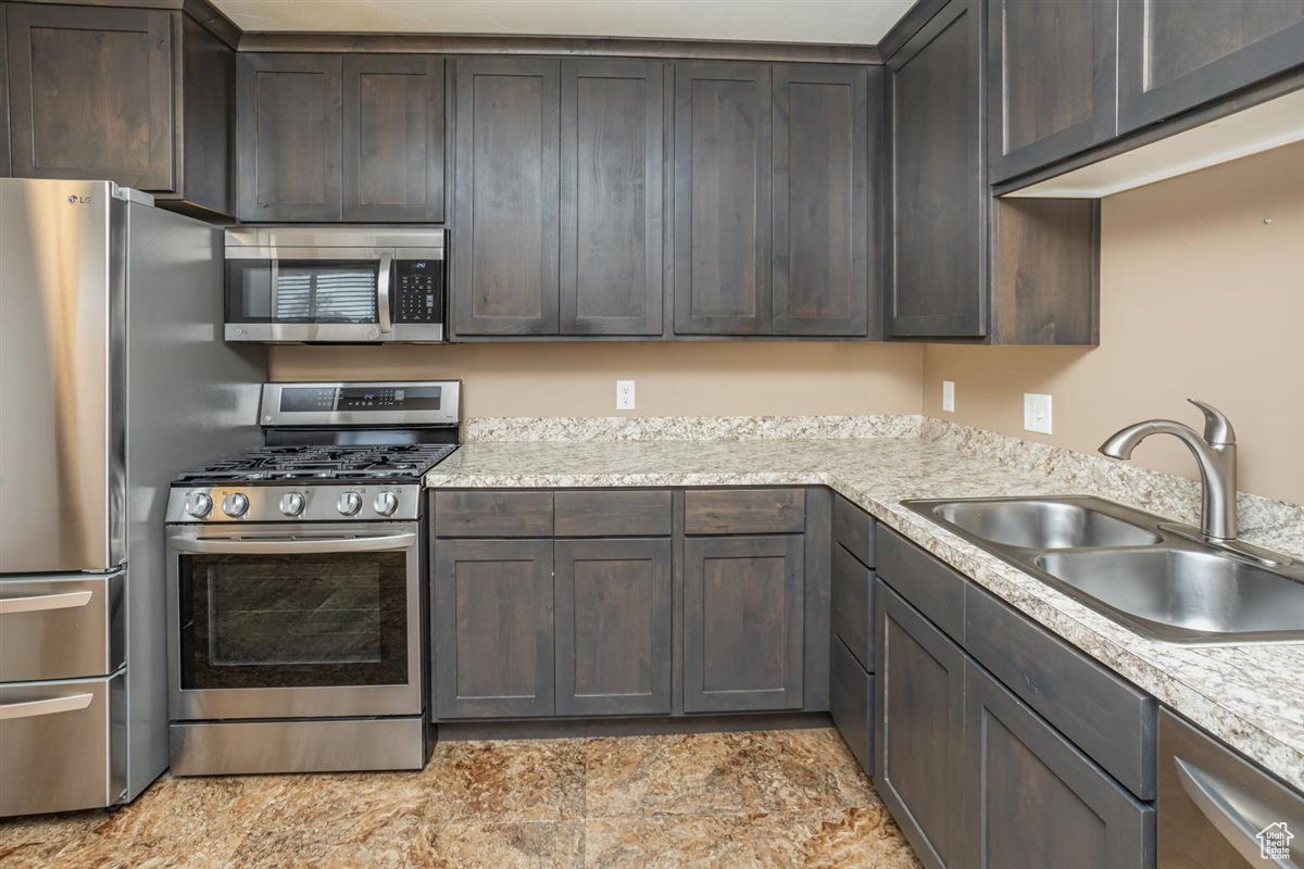
POLYGON ((885 334, 1095 344, 1099 203, 991 195, 982 9, 951 0, 885 65, 885 334))

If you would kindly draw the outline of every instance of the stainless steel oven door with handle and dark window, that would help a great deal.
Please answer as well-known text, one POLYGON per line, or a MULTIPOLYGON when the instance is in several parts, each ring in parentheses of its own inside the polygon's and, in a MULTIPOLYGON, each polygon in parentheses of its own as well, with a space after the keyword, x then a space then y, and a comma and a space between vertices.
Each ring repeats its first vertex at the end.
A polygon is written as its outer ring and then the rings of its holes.
POLYGON ((173 528, 173 720, 421 709, 416 522, 173 528))

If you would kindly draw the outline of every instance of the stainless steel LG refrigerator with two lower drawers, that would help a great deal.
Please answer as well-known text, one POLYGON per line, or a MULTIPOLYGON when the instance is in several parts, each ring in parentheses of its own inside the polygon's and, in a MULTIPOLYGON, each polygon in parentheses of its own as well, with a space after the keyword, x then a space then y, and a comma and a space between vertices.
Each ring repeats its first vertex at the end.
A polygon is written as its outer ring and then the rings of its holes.
POLYGON ((0 180, 0 816, 167 767, 172 476, 261 443, 222 231, 107 181, 0 180))

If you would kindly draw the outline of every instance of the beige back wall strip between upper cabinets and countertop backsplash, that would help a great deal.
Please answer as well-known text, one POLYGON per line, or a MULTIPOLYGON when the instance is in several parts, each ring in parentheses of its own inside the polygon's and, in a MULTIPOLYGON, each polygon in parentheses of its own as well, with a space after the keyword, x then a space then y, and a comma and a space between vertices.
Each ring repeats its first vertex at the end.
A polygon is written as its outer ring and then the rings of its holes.
POLYGON ((919 413, 923 348, 887 344, 673 343, 278 347, 276 380, 462 378, 471 417, 919 413))

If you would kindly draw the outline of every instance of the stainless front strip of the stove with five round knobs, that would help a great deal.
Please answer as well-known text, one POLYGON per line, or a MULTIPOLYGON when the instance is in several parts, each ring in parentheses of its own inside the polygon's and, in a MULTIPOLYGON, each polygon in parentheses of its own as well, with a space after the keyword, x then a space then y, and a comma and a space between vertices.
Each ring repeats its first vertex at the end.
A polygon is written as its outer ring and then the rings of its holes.
POLYGON ((189 524, 230 522, 339 522, 412 520, 421 504, 421 486, 317 485, 317 486, 173 486, 167 521, 189 524))

